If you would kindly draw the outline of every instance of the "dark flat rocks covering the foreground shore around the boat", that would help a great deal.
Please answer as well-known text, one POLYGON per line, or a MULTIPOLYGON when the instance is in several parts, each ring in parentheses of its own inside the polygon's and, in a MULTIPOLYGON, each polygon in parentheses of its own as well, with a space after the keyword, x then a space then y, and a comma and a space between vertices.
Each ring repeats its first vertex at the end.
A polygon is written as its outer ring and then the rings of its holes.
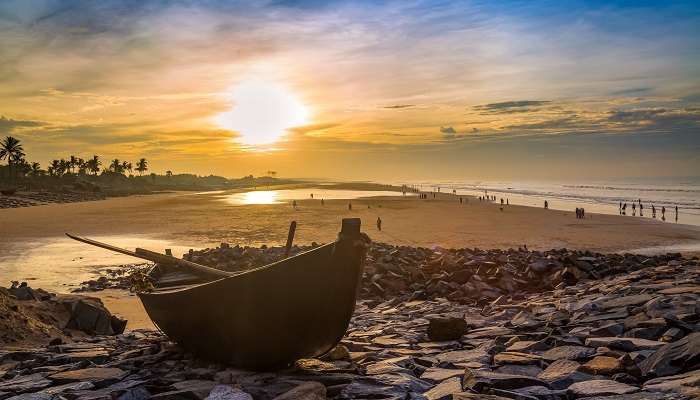
MULTIPOLYGON (((235 270, 280 251, 222 245, 186 258, 235 270)), ((243 371, 155 331, 98 335, 3 349, 0 400, 700 398, 699 264, 375 244, 348 332, 320 359, 243 371)))

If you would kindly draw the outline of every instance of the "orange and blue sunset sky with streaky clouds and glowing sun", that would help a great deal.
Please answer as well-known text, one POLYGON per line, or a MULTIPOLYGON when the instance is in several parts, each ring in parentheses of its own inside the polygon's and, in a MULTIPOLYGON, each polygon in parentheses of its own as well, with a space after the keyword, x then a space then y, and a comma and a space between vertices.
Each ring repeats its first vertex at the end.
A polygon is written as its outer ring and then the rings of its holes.
POLYGON ((696 0, 3 0, 0 38, 0 137, 43 165, 700 175, 696 0))

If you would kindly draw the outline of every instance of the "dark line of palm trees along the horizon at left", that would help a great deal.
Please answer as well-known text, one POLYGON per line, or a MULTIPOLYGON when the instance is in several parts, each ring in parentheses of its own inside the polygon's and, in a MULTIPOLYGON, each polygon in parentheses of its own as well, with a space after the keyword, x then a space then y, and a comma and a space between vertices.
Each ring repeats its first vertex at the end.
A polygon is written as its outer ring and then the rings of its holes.
MULTIPOLYGON (((98 155, 92 156, 87 160, 76 156, 70 156, 70 158, 52 160, 46 169, 41 167, 38 162, 29 162, 26 159, 26 154, 22 143, 19 139, 12 136, 7 136, 5 139, 0 141, 0 161, 7 160, 7 165, 10 171, 10 176, 17 176, 19 174, 28 176, 65 176, 68 174, 81 174, 87 175, 91 174, 97 176, 100 171, 102 173, 111 172, 115 174, 126 174, 127 172, 131 175, 134 171, 138 172, 139 176, 142 176, 146 171, 148 171, 148 160, 145 158, 139 159, 136 164, 129 161, 122 161, 115 158, 107 162, 106 166, 103 164, 102 159, 98 155)), ((171 175, 168 171, 168 175, 171 175)))

